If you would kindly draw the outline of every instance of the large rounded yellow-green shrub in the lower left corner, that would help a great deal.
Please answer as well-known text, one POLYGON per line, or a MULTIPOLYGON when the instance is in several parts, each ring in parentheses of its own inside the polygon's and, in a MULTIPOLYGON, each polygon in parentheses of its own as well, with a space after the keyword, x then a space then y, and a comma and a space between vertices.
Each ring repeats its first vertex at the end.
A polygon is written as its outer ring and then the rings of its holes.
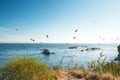
POLYGON ((9 59, 0 72, 0 80, 31 80, 35 75, 42 80, 50 77, 47 65, 31 57, 9 59))

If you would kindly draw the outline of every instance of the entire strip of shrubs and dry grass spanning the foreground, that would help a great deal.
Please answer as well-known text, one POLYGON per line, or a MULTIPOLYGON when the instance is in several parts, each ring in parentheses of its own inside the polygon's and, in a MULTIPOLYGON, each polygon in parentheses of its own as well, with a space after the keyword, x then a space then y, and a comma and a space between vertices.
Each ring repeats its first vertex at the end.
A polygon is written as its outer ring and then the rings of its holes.
MULTIPOLYGON (((0 80, 62 80, 60 76, 69 78, 84 78, 85 80, 119 80, 120 65, 115 62, 108 63, 105 56, 101 56, 96 61, 88 63, 88 70, 77 64, 70 68, 62 68, 62 61, 58 65, 48 67, 38 58, 15 57, 9 59, 0 68, 0 80), (59 79, 57 79, 57 77, 59 79)), ((68 78, 68 80, 70 80, 68 78)))

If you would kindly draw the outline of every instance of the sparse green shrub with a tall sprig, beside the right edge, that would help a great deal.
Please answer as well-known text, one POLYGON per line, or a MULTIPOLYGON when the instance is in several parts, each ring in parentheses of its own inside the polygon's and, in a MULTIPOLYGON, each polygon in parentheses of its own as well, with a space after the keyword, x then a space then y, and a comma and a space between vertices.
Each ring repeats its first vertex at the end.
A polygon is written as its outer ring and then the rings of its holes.
POLYGON ((101 59, 100 56, 98 60, 88 63, 88 69, 90 71, 96 71, 100 73, 112 73, 115 76, 120 76, 120 64, 113 62, 107 62, 106 57, 101 59))

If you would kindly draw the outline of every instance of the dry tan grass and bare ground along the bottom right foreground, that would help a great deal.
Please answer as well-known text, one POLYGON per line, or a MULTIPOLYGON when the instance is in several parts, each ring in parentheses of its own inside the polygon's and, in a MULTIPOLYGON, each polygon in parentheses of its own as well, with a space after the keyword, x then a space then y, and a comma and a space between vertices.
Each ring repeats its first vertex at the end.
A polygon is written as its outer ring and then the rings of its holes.
POLYGON ((101 74, 83 70, 56 70, 55 80, 120 80, 111 73, 101 74))

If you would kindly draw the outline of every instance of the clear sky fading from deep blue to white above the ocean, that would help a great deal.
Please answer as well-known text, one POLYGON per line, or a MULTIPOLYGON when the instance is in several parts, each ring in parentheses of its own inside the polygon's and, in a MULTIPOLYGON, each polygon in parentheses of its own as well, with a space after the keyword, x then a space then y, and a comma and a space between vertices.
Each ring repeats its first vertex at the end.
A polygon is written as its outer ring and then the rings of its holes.
POLYGON ((41 42, 120 43, 120 0, 0 0, 0 43, 41 42))

